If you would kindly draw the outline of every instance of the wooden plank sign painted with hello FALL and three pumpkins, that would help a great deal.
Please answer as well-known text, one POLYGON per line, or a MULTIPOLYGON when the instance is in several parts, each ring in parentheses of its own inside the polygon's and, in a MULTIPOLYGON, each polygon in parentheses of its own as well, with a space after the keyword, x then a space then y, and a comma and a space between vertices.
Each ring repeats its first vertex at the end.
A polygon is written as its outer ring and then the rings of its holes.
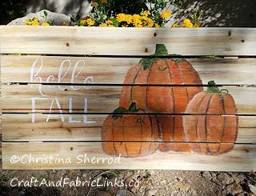
POLYGON ((0 33, 3 169, 256 170, 256 29, 0 33))

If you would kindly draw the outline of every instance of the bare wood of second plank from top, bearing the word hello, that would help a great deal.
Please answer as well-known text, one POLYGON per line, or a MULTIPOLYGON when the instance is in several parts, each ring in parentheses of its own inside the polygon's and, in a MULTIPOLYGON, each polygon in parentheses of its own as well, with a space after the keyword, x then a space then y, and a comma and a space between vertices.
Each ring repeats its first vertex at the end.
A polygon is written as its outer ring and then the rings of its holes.
MULTIPOLYGON (((43 64, 42 69, 37 74, 46 82, 50 75, 54 76, 51 83, 84 83, 85 79, 92 77, 96 84, 122 84, 126 73, 130 68, 139 62, 140 58, 75 58, 75 57, 54 57, 54 56, 11 56, 3 55, 1 57, 2 82, 40 82, 30 79, 31 66, 34 62, 34 74, 43 64), (64 62, 62 75, 66 76, 58 81, 60 66, 64 62), (74 80, 71 75, 75 64, 78 62, 76 73, 81 70, 74 80), (82 67, 82 63, 85 66, 82 67), (71 63, 70 70, 68 70, 71 63)), ((256 59, 222 59, 222 58, 190 58, 186 59, 198 72, 203 84, 214 79, 219 85, 255 85, 256 78, 256 59)), ((136 82, 135 82, 136 83, 136 82)), ((188 84, 190 85, 190 84, 188 84)))

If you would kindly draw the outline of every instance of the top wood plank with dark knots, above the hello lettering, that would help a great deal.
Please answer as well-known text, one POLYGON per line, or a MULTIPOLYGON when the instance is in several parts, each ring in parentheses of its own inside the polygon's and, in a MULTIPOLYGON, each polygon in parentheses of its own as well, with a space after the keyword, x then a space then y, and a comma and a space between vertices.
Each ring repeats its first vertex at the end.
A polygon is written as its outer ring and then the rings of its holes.
POLYGON ((156 43, 170 54, 255 55, 254 28, 100 28, 1 26, 1 53, 149 55, 156 43))

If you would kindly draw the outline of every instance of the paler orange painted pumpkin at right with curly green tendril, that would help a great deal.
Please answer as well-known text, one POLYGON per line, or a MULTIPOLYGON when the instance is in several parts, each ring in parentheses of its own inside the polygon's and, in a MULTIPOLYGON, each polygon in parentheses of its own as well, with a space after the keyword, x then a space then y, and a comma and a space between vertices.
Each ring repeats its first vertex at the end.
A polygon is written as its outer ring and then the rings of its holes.
POLYGON ((208 90, 196 94, 186 108, 186 113, 201 115, 183 116, 183 127, 188 141, 204 142, 190 143, 194 152, 222 154, 234 147, 237 138, 236 106, 227 90, 218 90, 214 81, 208 84, 208 90))

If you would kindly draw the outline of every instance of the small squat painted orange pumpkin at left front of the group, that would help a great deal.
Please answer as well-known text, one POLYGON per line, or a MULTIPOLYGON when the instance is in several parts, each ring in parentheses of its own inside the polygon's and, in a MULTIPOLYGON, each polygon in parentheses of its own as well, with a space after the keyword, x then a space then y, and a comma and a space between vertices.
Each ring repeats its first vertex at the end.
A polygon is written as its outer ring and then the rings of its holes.
POLYGON ((102 149, 106 154, 121 154, 130 158, 154 153, 158 150, 160 135, 157 117, 129 112, 138 112, 135 103, 130 105, 129 110, 122 107, 114 110, 114 113, 127 114, 114 114, 106 118, 102 126, 102 141, 111 142, 102 142, 102 149))

